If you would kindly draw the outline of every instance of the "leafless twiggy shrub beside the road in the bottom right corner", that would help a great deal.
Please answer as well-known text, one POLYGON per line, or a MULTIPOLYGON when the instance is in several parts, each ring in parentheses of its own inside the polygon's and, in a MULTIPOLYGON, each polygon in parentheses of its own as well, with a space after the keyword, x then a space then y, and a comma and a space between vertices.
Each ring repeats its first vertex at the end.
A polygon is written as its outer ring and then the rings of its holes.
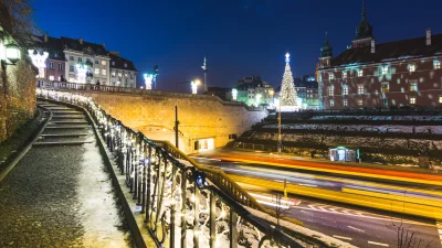
POLYGON ((406 226, 401 220, 400 224, 391 222, 387 228, 397 235, 398 248, 430 248, 431 241, 425 241, 419 237, 419 233, 406 226))

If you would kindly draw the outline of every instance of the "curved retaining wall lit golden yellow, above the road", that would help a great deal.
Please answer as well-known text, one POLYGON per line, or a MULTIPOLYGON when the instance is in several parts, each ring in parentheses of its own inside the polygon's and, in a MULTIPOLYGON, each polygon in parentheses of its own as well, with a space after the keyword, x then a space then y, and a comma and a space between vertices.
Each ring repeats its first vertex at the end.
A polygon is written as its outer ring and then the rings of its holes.
POLYGON ((242 105, 221 101, 218 97, 168 94, 138 95, 82 91, 124 125, 141 131, 150 139, 175 143, 175 106, 178 106, 180 149, 196 151, 196 141, 214 139, 222 147, 267 116, 265 110, 249 110, 242 105))

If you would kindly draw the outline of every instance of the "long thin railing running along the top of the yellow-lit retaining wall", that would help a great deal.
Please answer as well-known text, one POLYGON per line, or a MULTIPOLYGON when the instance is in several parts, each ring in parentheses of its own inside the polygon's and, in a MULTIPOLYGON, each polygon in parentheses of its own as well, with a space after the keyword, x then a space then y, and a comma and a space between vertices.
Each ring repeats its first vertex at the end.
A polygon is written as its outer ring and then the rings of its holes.
POLYGON ((179 98, 198 98, 217 100, 224 106, 242 106, 249 111, 264 111, 263 107, 246 106, 242 101, 225 101, 220 99, 218 96, 211 95, 198 95, 198 94, 183 94, 183 93, 170 93, 161 90, 150 90, 143 88, 127 88, 120 86, 109 86, 109 85, 94 85, 94 84, 77 84, 70 82, 56 82, 48 79, 39 79, 36 82, 38 88, 46 89, 66 89, 66 90, 84 90, 84 91, 105 91, 105 93, 124 93, 124 94, 138 94, 150 97, 179 97, 179 98))

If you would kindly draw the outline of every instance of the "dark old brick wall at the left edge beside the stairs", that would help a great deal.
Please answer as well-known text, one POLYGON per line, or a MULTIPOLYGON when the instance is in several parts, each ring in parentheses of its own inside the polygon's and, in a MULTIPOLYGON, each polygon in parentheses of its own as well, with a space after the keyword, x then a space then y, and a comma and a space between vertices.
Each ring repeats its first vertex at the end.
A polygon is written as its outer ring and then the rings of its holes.
POLYGON ((24 58, 0 69, 1 142, 35 112, 35 72, 24 58))

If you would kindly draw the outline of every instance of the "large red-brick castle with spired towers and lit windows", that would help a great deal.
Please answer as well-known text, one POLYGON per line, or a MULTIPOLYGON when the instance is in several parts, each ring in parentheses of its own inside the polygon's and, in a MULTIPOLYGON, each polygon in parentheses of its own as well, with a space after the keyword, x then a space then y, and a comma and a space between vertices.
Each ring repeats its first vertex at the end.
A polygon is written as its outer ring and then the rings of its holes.
POLYGON ((320 51, 320 109, 442 107, 442 34, 376 44, 364 7, 351 47, 320 51))

